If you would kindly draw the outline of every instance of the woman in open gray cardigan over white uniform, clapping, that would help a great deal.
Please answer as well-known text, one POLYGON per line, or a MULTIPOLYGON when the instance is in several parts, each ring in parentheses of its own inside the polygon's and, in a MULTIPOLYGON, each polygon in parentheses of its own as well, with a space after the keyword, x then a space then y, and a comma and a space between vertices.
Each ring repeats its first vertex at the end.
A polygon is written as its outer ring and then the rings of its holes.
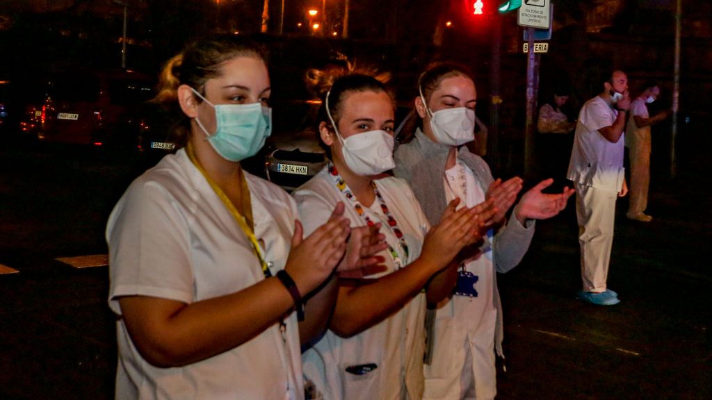
POLYGON ((494 180, 481 157, 463 146, 473 140, 477 92, 464 67, 441 63, 418 80, 412 121, 399 137, 394 175, 408 181, 429 221, 461 206, 493 201, 498 212, 488 220, 480 246, 468 248, 456 269, 456 286, 430 303, 434 340, 424 366, 424 399, 493 399, 496 395, 495 352, 502 354, 501 303, 496 272, 517 265, 534 233, 534 220, 555 216, 573 193, 543 194, 547 179, 530 189, 506 218, 522 189, 522 179, 494 180), (414 126, 417 125, 417 126, 414 126), (434 315, 432 315, 434 314, 434 315))

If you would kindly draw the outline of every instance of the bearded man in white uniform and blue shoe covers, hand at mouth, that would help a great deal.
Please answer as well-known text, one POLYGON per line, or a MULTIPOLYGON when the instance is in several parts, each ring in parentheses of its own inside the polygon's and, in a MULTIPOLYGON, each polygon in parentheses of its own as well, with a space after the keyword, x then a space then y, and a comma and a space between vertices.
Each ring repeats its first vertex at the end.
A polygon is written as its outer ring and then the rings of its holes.
POLYGON ((629 107, 627 75, 616 70, 604 81, 602 93, 581 108, 567 172, 576 189, 583 282, 578 298, 595 305, 620 302, 606 280, 616 198, 628 192, 623 157, 629 107))

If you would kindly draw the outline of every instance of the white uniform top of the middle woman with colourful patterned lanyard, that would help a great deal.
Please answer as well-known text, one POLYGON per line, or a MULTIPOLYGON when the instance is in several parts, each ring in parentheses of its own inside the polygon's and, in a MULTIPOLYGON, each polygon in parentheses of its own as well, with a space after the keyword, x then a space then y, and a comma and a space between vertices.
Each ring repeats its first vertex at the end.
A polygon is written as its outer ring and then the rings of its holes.
MULTIPOLYGON (((328 168, 325 167, 294 192, 305 234, 327 221, 337 201, 345 203, 344 215, 352 226, 366 225, 328 174, 328 168)), ((372 221, 382 223, 381 233, 405 260, 404 265, 407 265, 420 255, 429 223, 404 180, 387 177, 375 182, 390 213, 404 233, 408 246, 407 258, 398 239, 388 228, 379 201, 376 199, 372 206, 364 207, 365 212, 372 221)), ((387 251, 379 255, 385 259, 387 270, 366 278, 394 271, 392 256, 387 251)), ((344 338, 329 330, 303 355, 305 377, 314 382, 323 399, 327 400, 420 399, 423 393, 424 318, 425 295, 420 293, 394 315, 358 335, 344 338), (362 375, 346 372, 347 367, 370 363, 377 365, 372 372, 362 375)))

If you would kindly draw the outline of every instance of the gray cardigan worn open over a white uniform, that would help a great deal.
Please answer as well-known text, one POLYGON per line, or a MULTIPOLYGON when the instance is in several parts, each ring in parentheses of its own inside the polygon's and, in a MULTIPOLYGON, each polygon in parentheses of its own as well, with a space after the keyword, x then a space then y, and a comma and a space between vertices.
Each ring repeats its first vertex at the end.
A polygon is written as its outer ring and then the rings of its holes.
MULTIPOLYGON (((412 186, 425 216, 432 225, 440 221, 447 206, 443 179, 449 150, 448 145, 431 141, 418 129, 414 139, 399 145, 394 154, 395 176, 405 179, 412 186)), ((487 163, 464 146, 459 148, 457 158, 472 170, 475 179, 486 193, 494 181, 487 163)), ((510 218, 508 223, 496 232, 492 243, 492 259, 498 273, 506 273, 520 263, 534 236, 534 226, 533 220, 526 221, 525 226, 522 226, 517 219, 510 218)), ((484 246, 486 245, 487 243, 484 246)), ((497 309, 495 347, 497 354, 501 356, 504 332, 496 275, 493 274, 493 301, 497 309)))

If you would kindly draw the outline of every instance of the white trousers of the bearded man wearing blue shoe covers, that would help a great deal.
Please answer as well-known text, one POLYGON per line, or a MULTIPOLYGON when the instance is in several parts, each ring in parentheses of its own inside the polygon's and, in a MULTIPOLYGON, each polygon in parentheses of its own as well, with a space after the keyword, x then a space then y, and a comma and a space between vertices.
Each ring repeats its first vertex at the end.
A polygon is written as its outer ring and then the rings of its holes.
POLYGON ((583 290, 606 290, 616 215, 617 191, 574 184, 581 248, 583 290))

